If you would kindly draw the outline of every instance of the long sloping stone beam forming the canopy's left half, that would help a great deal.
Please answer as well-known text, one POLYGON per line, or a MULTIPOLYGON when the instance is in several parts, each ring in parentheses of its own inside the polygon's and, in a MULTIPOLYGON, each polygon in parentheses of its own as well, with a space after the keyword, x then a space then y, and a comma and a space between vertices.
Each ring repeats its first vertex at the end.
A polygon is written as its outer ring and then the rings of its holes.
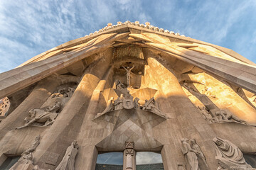
POLYGON ((14 92, 39 81, 60 69, 78 62, 94 53, 107 49, 114 40, 127 36, 128 33, 112 33, 100 35, 92 44, 82 47, 75 52, 67 52, 62 55, 55 55, 46 60, 12 69, 0 74, 0 98, 9 96, 14 92))

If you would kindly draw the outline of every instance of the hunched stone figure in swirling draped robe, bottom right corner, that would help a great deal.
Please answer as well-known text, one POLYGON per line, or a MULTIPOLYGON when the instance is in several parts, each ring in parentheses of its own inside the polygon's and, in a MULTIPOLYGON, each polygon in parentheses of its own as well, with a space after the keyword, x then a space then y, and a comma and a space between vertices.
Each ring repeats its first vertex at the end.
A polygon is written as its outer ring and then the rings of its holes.
POLYGON ((240 149, 228 140, 214 137, 213 142, 217 146, 216 157, 220 164, 219 169, 252 169, 252 166, 245 162, 240 149))

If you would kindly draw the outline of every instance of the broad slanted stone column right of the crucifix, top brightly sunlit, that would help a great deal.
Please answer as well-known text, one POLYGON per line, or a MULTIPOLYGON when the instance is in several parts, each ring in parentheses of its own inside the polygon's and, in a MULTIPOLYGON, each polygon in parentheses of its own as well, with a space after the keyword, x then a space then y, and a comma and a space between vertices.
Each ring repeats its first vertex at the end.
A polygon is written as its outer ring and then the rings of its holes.
POLYGON ((185 162, 181 153, 181 138, 196 139, 210 169, 216 169, 215 146, 212 142, 215 132, 202 118, 189 98, 182 90, 178 79, 153 57, 147 59, 151 78, 156 81, 159 92, 156 101, 160 109, 169 116, 161 125, 154 128, 154 137, 164 144, 161 150, 165 169, 178 169, 177 162, 185 162))

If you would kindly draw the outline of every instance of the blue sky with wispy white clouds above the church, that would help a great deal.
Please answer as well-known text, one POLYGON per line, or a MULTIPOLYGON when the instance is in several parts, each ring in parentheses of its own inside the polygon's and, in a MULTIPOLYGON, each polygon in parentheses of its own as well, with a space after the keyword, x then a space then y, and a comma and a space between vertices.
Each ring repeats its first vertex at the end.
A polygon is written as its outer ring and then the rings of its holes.
POLYGON ((228 47, 256 62, 255 0, 1 0, 0 72, 117 21, 228 47))

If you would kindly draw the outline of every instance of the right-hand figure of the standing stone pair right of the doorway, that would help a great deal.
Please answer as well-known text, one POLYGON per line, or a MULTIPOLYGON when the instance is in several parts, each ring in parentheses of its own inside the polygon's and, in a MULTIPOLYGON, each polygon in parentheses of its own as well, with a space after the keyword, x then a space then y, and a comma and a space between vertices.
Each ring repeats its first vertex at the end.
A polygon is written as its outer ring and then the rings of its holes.
POLYGON ((206 163, 206 157, 204 156, 201 148, 196 143, 195 139, 190 140, 191 142, 191 148, 193 149, 193 152, 195 152, 196 156, 198 157, 198 165, 201 170, 207 170, 208 165, 206 163))

